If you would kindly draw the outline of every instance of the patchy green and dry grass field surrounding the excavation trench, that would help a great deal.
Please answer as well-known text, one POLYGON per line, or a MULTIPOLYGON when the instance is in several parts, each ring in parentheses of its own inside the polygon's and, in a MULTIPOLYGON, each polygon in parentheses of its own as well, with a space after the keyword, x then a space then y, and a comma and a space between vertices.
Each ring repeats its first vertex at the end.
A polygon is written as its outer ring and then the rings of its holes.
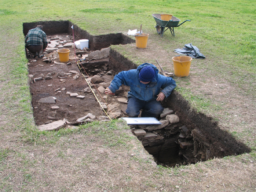
POLYGON ((255 191, 255 20, 255 0, 1 0, 0 191, 255 191), (191 22, 176 28, 175 37, 166 31, 160 38, 154 13, 170 13, 181 22, 191 22), (142 24, 143 32, 150 34, 150 56, 129 45, 112 46, 137 65, 154 63, 157 57, 165 69, 172 70, 174 49, 187 43, 197 46, 206 59, 193 59, 190 76, 175 79, 176 90, 253 151, 166 170, 152 165, 119 121, 73 131, 37 131, 22 24, 50 20, 70 20, 91 35, 126 34, 142 24), (96 146, 107 152, 98 152, 96 146), (68 154, 67 150, 79 153, 68 154), (96 162, 106 167, 94 172, 96 162), (212 175, 210 181, 206 173, 212 175), (229 180, 223 179, 224 174, 229 180))

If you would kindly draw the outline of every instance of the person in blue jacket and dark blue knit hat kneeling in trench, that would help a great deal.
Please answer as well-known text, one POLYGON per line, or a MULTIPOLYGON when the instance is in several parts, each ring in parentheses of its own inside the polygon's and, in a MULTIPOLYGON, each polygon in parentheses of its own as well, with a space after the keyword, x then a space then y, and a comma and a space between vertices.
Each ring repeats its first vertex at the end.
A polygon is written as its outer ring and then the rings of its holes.
POLYGON ((162 113, 160 101, 167 98, 176 87, 173 78, 158 73, 156 66, 143 63, 137 69, 122 71, 105 89, 106 94, 113 94, 121 85, 130 86, 126 113, 129 117, 156 117, 162 113))

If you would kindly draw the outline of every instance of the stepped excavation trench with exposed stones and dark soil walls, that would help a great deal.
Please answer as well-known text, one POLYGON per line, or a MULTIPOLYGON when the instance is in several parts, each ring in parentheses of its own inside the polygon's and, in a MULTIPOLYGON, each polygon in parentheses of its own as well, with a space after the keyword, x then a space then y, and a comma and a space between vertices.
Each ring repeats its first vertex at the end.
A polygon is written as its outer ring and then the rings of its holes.
MULTIPOLYGON (((28 70, 33 114, 37 126, 64 118, 69 122, 77 122, 79 118, 88 113, 95 116, 94 120, 108 120, 85 81, 85 78, 90 81, 95 75, 100 77, 101 82, 91 83, 91 87, 95 90, 102 105, 108 104, 108 107, 110 106, 109 116, 126 117, 126 96, 129 87, 122 86, 115 95, 108 96, 108 98, 103 92, 100 92, 100 89, 108 87, 116 73, 122 70, 135 69, 137 66, 112 49, 109 49, 109 55, 106 58, 89 61, 80 59, 84 58, 84 54, 91 54, 96 50, 102 50, 102 48, 104 50, 110 45, 134 43, 135 40, 122 33, 93 36, 70 21, 24 23, 24 35, 37 25, 43 26, 48 41, 51 44, 57 42, 59 49, 65 44, 65 41, 73 41, 71 28, 73 26, 75 41, 88 39, 90 48, 87 53, 75 55, 74 48, 68 47, 70 49, 69 65, 60 63, 56 51, 48 50, 44 59, 37 57, 34 59, 31 53, 26 52, 29 59, 28 70), (48 62, 43 61, 47 58, 49 59, 48 62), (79 60, 81 62, 79 62, 78 67, 76 61, 79 60), (46 78, 48 74, 51 74, 52 78, 46 78), (41 78, 41 80, 35 81, 37 78, 41 78), (78 93, 84 98, 71 97, 67 92, 78 93), (55 102, 39 102, 42 98, 48 97, 56 98, 55 102)), ((179 122, 168 123, 160 129, 157 126, 131 127, 134 135, 141 140, 145 149, 154 156, 158 164, 170 167, 194 164, 214 157, 221 158, 250 151, 250 148, 245 144, 220 129, 211 117, 191 109, 189 103, 177 91, 174 90, 162 102, 162 105, 173 110, 170 114, 178 116, 179 122)), ((166 116, 157 118, 165 121, 166 116)))

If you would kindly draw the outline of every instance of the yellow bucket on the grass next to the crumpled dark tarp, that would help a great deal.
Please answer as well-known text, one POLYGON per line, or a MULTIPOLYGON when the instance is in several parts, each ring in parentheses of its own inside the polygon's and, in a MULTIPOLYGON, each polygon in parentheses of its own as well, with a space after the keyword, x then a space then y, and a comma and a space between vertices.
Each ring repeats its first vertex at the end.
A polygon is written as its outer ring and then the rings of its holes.
POLYGON ((192 58, 189 56, 175 56, 172 60, 175 76, 187 77, 189 75, 192 58))

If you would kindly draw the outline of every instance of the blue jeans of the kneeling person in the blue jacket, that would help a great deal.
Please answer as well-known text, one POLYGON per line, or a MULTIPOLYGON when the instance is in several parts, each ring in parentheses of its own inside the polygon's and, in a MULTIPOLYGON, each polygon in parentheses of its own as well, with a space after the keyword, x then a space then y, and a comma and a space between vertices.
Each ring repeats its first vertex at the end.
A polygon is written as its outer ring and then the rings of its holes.
POLYGON ((138 117, 141 109, 143 109, 141 117, 156 117, 163 111, 162 105, 157 100, 145 102, 137 98, 128 99, 126 113, 129 117, 138 117))

